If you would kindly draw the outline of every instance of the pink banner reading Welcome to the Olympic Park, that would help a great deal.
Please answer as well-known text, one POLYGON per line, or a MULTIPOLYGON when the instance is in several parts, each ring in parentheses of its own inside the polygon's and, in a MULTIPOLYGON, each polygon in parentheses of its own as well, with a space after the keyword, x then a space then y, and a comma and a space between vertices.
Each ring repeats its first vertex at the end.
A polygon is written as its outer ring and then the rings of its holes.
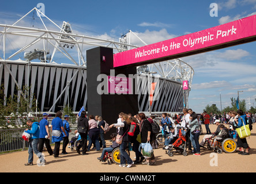
POLYGON ((192 55, 218 49, 217 47, 220 46, 223 46, 220 48, 224 48, 255 41, 255 38, 256 15, 174 39, 116 53, 114 54, 114 67, 133 64, 138 66, 153 60, 156 60, 156 62, 157 60, 164 60, 165 58, 168 60, 170 56, 192 55))

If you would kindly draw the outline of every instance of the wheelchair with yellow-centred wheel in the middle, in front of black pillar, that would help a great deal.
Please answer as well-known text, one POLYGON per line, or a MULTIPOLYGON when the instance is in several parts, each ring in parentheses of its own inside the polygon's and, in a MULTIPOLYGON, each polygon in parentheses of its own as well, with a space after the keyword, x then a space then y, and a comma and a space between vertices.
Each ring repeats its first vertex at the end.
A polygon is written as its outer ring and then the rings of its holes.
MULTIPOLYGON (((127 154, 130 156, 130 151, 129 148, 126 148, 125 150, 127 154)), ((119 147, 116 147, 112 152, 106 152, 104 154, 103 160, 100 160, 101 162, 108 162, 108 164, 112 164, 113 162, 116 164, 121 163, 121 158, 120 158, 120 149, 119 147)))

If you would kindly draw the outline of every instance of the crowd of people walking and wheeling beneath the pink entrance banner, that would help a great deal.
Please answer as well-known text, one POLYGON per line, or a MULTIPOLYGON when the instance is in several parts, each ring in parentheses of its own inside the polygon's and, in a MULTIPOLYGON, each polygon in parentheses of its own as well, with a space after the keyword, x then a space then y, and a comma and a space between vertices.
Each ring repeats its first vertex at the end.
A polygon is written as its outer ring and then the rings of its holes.
MULTIPOLYGON (((232 138, 237 139, 237 144, 239 147, 239 154, 249 155, 249 145, 247 144, 246 138, 240 139, 236 136, 236 128, 242 127, 243 122, 253 122, 253 118, 250 118, 247 114, 244 114, 242 110, 237 112, 231 111, 228 113, 229 118, 224 121, 224 124, 229 124, 230 131, 223 124, 220 119, 215 119, 211 122, 210 115, 207 112, 198 116, 192 109, 183 109, 183 114, 170 117, 170 114, 163 113, 160 119, 160 132, 162 132, 164 137, 164 147, 167 150, 176 139, 178 139, 179 130, 181 129, 185 132, 186 144, 188 150, 195 156, 200 156, 200 148, 204 147, 205 140, 210 137, 214 140, 221 140, 224 137, 232 136, 232 138), (227 121, 228 120, 228 121, 227 121), (209 124, 213 123, 217 125, 216 131, 211 133, 209 129, 209 124), (206 135, 204 135, 201 143, 199 143, 199 135, 201 134, 201 125, 205 124, 206 135), (193 149, 192 149, 193 148, 193 149)), ((250 114, 249 114, 250 115, 250 114)), ((69 143, 69 133, 71 132, 69 127, 69 116, 65 115, 62 121, 62 112, 57 112, 55 118, 51 122, 51 138, 52 143, 54 143, 54 150, 52 150, 50 145, 50 131, 49 124, 47 121, 48 114, 43 114, 43 119, 40 122, 33 122, 32 120, 27 121, 27 125, 31 129, 26 129, 25 132, 31 134, 29 139, 29 157, 28 163, 25 166, 33 165, 33 153, 35 153, 39 159, 40 163, 45 163, 46 160, 42 156, 42 151, 44 144, 46 145, 48 154, 53 155, 54 158, 59 158, 61 141, 62 153, 67 154, 66 147, 69 143)), ((97 151, 103 148, 102 154, 98 160, 103 160, 103 156, 106 152, 111 152, 115 147, 119 147, 121 164, 120 167, 131 167, 133 164, 147 164, 153 166, 156 164, 155 155, 152 154, 150 158, 142 154, 141 145, 144 143, 150 143, 150 145, 155 148, 157 147, 156 135, 159 133, 155 131, 154 125, 155 120, 152 117, 146 117, 144 113, 139 113, 134 116, 126 113, 119 113, 119 117, 115 124, 111 124, 108 130, 105 129, 106 121, 100 116, 89 115, 87 118, 86 112, 82 111, 81 116, 78 117, 77 130, 74 133, 79 133, 81 137, 81 143, 76 148, 78 154, 88 155, 87 151, 91 150, 93 145, 97 151), (88 119, 89 118, 89 119, 88 119), (131 127, 135 127, 132 134, 129 134, 131 127), (111 134, 112 145, 106 147, 106 141, 104 140, 104 135, 109 129, 116 128, 115 133, 111 134), (122 141, 120 139, 122 138, 122 141), (89 143, 87 142, 89 139, 89 143), (135 152, 135 160, 132 160, 126 152, 126 148, 129 144, 132 144, 132 150, 135 152), (145 157, 146 158, 145 158, 145 157), (127 164, 127 165, 126 165, 127 164)), ((252 124, 252 123, 251 123, 252 124)), ((250 124, 250 126, 252 126, 250 124)), ((250 127, 252 129, 252 127, 250 127)))

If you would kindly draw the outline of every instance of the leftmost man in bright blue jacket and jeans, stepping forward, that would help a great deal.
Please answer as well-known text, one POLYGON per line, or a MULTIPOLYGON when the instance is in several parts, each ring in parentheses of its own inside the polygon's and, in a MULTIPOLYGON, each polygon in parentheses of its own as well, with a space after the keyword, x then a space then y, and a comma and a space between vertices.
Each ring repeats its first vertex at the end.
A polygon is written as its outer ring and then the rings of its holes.
POLYGON ((33 152, 39 157, 40 163, 44 163, 45 160, 40 154, 37 149, 39 143, 39 122, 33 122, 32 120, 27 121, 28 127, 31 127, 29 130, 28 128, 25 129, 25 132, 31 134, 31 138, 29 139, 29 147, 28 147, 28 163, 25 163, 25 166, 32 166, 33 165, 33 152))

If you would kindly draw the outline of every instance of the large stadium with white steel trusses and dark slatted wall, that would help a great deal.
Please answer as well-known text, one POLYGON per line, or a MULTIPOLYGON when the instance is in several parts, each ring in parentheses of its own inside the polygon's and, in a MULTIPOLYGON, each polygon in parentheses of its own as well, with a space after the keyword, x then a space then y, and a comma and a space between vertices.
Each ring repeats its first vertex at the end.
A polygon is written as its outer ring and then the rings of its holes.
MULTIPOLYGON (((114 53, 139 47, 131 30, 119 40, 85 36, 73 31, 69 22, 56 24, 38 9, 10 24, 0 22, 0 82, 5 97, 21 95, 23 86, 37 100, 40 112, 57 112, 66 105, 78 112, 87 106, 86 50, 108 47, 114 53), (31 19, 31 25, 24 25, 31 19), (133 38, 133 39, 131 39, 133 38)), ((140 112, 180 112, 187 106, 194 70, 182 59, 137 67, 138 109, 140 112), (159 98, 149 108, 148 78, 159 79, 159 98), (189 82, 183 90, 182 82, 189 82)), ((5 103, 5 102, 4 102, 5 103)))

